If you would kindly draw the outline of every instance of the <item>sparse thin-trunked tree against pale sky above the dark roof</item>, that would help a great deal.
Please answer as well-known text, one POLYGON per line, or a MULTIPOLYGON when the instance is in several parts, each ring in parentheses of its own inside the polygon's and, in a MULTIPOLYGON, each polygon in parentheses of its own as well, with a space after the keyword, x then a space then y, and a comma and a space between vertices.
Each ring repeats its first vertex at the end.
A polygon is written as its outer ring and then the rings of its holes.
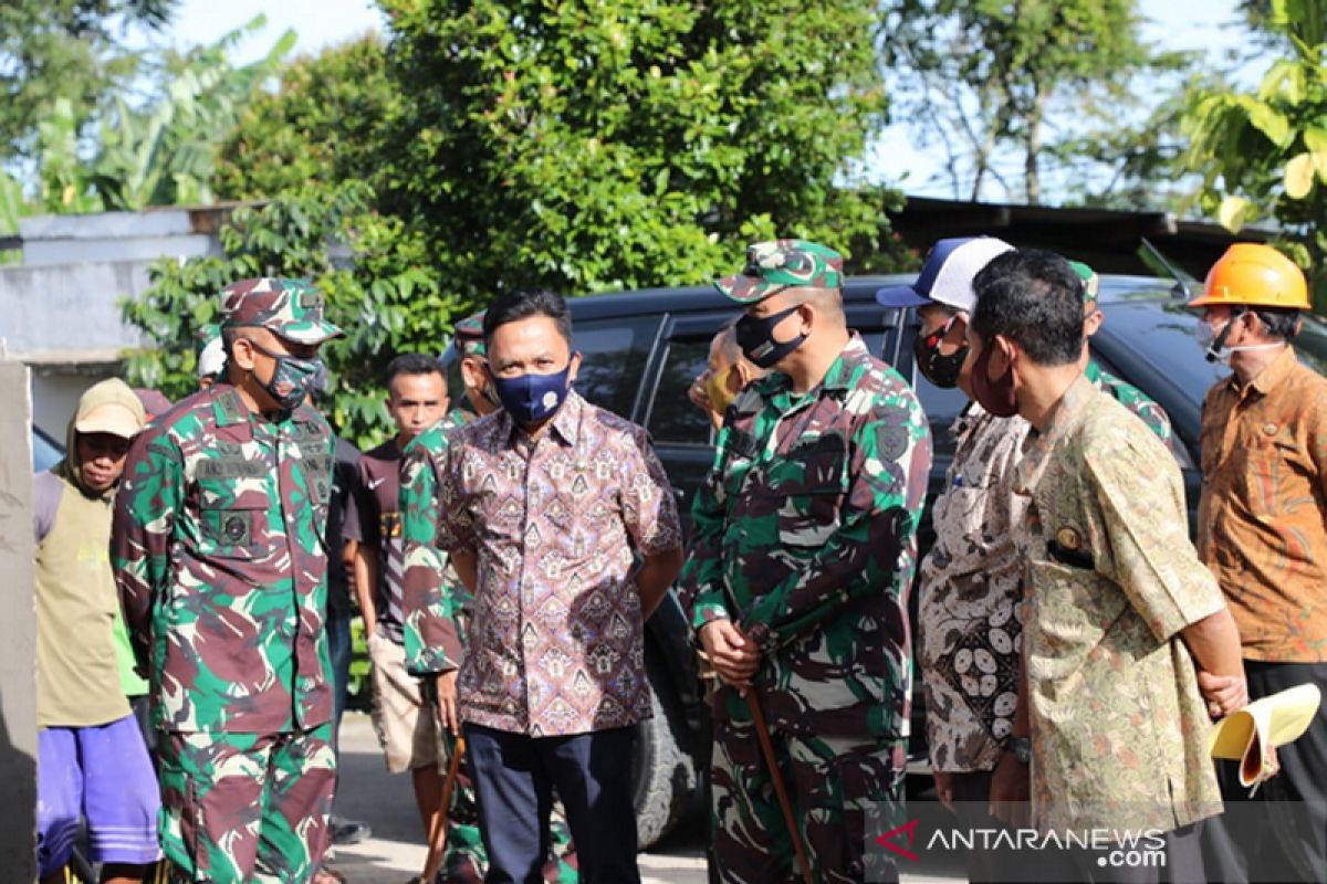
MULTIPOLYGON (((1158 78, 1193 60, 1141 37, 1136 0, 893 0, 885 64, 957 197, 1128 204, 1168 178, 1176 109, 1158 78)), ((1177 86, 1177 83, 1176 83, 1177 86)), ((1136 204, 1132 208, 1139 208, 1136 204)))

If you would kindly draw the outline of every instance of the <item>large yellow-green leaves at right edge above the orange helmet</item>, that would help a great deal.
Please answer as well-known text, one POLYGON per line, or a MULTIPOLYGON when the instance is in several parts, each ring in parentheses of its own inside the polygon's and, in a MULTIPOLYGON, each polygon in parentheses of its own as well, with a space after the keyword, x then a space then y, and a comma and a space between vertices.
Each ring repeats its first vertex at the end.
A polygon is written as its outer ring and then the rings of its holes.
POLYGON ((1327 307, 1327 9, 1320 0, 1271 0, 1263 27, 1283 54, 1254 91, 1193 95, 1185 164, 1202 175, 1198 204, 1238 232, 1274 219, 1281 245, 1310 273, 1327 307))

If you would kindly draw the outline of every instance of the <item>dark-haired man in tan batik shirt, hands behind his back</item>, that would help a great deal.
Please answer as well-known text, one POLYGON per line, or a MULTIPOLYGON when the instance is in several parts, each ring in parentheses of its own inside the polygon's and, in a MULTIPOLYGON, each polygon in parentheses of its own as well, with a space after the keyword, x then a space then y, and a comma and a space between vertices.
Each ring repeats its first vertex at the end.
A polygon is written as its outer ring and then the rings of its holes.
MULTIPOLYGON (((1007 252, 974 289, 973 392, 1032 425, 1014 472, 1028 497, 1016 542, 1030 734, 1015 733, 1031 737, 1031 824, 1062 843, 1092 830, 1154 835, 1169 880, 1202 880, 1194 824, 1221 812, 1208 704, 1227 714, 1247 693, 1234 620, 1188 538, 1178 467, 1083 376, 1082 284, 1063 258, 1007 252), (1226 680, 1206 701, 1198 669, 1226 680)), ((993 793, 1009 819, 1009 795, 993 793)), ((1161 873, 1108 860, 1083 848, 1038 856, 1043 872, 1063 863, 1064 880, 1161 873)))

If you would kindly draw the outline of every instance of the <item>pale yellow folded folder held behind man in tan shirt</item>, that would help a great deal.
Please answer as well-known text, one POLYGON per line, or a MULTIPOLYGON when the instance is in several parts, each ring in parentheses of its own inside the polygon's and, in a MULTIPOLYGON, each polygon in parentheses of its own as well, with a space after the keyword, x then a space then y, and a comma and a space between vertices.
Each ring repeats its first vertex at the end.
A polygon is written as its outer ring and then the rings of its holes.
POLYGON ((1254 700, 1213 728, 1208 750, 1213 758, 1238 758, 1241 785, 1257 786, 1277 775, 1271 750, 1299 740, 1320 704, 1322 691, 1312 683, 1254 700))

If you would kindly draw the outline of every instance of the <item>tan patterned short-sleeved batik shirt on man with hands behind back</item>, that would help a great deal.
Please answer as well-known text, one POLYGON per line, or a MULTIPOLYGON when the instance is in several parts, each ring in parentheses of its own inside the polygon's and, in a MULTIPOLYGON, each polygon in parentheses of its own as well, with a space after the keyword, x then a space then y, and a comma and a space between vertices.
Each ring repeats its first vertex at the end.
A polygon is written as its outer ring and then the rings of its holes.
MULTIPOLYGON (((1023 647, 1032 822, 1172 831, 1221 811, 1185 627, 1225 607, 1174 457, 1079 378, 1028 435, 1023 647)), ((1022 541, 1020 541, 1022 542, 1022 541)))

